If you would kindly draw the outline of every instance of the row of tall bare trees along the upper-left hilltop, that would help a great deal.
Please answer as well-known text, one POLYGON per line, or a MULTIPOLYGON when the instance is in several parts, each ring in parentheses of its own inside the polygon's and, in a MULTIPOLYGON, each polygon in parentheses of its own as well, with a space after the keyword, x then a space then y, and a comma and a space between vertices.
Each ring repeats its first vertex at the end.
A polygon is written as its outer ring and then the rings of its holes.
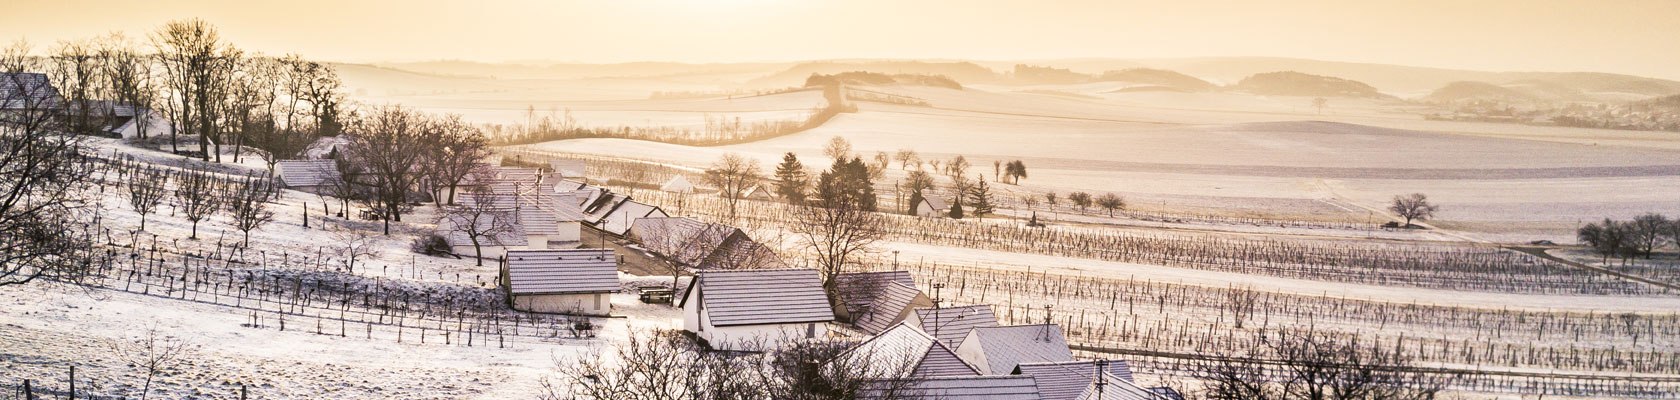
POLYGON ((45 72, 71 133, 109 136, 133 111, 139 139, 168 134, 170 151, 183 153, 181 138, 192 136, 197 151, 185 155, 220 163, 227 145, 235 163, 249 151, 272 166, 344 129, 348 106, 331 64, 242 50, 198 18, 168 22, 144 42, 109 34, 57 42, 44 57, 30 50, 22 40, 7 47, 0 72, 45 72), (170 129, 150 131, 158 118, 170 129))

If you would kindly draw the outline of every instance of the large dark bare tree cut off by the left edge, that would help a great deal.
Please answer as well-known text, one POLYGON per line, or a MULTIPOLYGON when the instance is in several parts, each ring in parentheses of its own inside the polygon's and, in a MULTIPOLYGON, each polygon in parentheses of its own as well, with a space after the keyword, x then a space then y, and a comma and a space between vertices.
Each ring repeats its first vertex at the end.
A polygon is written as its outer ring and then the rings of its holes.
POLYGON ((29 44, 0 49, 0 286, 74 281, 91 266, 84 188, 94 163, 62 129, 47 77, 24 72, 34 67, 29 44))

